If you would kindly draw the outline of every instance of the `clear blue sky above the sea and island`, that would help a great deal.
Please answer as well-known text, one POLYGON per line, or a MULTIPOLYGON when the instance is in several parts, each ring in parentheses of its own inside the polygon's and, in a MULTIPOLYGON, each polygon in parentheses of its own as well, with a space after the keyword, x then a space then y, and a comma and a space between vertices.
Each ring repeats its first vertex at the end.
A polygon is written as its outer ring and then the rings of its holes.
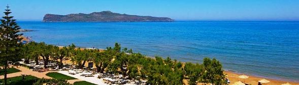
POLYGON ((7 4, 18 20, 109 10, 175 20, 299 21, 298 0, 0 0, 1 11, 7 4))

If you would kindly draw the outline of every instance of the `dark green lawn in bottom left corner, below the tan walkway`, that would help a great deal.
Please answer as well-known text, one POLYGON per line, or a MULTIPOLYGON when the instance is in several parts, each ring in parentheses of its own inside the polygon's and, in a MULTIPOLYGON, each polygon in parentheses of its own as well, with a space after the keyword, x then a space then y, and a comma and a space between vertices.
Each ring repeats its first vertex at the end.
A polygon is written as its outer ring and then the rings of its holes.
MULTIPOLYGON (((10 85, 17 85, 17 84, 31 85, 34 82, 38 81, 38 79, 40 79, 38 77, 31 76, 31 75, 25 76, 24 80, 22 80, 22 78, 23 78, 22 76, 10 77, 7 79, 7 83, 10 85)), ((4 79, 0 79, 0 82, 4 83, 4 79)))

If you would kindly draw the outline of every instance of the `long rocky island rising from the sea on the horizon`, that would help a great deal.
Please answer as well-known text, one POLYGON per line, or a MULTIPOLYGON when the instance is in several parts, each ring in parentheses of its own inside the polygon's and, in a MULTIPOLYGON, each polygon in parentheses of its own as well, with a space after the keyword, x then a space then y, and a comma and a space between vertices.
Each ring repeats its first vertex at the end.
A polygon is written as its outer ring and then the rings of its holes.
POLYGON ((43 22, 170 22, 167 17, 137 16, 113 13, 111 11, 93 12, 90 14, 54 15, 46 14, 43 22))

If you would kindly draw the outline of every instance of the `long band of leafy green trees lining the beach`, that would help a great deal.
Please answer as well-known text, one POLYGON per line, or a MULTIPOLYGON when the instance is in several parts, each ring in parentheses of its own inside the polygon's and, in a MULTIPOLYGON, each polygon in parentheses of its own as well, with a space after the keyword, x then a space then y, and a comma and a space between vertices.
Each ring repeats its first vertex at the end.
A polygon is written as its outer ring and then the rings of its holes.
POLYGON ((58 48, 44 43, 29 43, 23 49, 28 50, 24 53, 28 53, 26 58, 29 59, 35 59, 31 55, 35 54, 35 50, 40 50, 40 53, 36 53, 44 61, 49 56, 59 59, 60 63, 62 58, 70 58, 79 68, 83 68, 87 62, 93 62, 97 72, 127 75, 130 79, 146 79, 148 84, 183 84, 183 79, 187 79, 189 84, 226 84, 222 65, 215 58, 204 58, 203 64, 182 63, 170 57, 146 57, 131 49, 122 49, 117 43, 104 51, 76 48, 75 45, 58 48))

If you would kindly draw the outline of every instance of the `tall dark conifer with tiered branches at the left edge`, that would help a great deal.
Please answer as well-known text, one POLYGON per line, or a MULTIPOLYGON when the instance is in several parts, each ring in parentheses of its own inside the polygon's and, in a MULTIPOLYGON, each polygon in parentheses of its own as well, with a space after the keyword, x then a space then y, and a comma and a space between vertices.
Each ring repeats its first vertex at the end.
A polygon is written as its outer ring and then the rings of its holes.
POLYGON ((5 84, 7 84, 8 62, 16 61, 21 45, 18 43, 21 40, 19 36, 22 35, 18 33, 20 27, 17 25, 16 20, 13 19, 13 16, 9 16, 10 13, 9 6, 7 6, 7 10, 4 12, 5 16, 2 17, 0 25, 0 64, 4 66, 5 84))

